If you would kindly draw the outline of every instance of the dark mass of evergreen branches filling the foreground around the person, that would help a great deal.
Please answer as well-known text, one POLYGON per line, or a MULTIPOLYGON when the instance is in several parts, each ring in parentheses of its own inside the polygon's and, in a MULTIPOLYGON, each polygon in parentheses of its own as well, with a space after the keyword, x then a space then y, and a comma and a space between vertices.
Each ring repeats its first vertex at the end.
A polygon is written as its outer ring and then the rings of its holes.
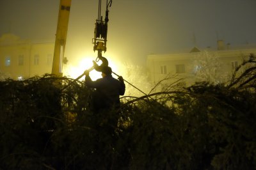
POLYGON ((256 169, 248 63, 228 84, 169 86, 101 114, 90 111, 83 82, 1 81, 0 169, 256 169))

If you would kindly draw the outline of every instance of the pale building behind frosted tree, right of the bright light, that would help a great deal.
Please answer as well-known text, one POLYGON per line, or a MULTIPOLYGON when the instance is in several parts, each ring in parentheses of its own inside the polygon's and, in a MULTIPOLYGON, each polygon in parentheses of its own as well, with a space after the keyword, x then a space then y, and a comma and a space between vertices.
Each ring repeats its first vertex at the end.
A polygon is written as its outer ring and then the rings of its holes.
POLYGON ((164 82, 180 80, 183 86, 191 86, 196 81, 225 82, 244 59, 256 54, 256 45, 232 47, 222 40, 217 45, 217 49, 194 47, 186 52, 147 56, 150 81, 157 84, 167 77, 164 82))

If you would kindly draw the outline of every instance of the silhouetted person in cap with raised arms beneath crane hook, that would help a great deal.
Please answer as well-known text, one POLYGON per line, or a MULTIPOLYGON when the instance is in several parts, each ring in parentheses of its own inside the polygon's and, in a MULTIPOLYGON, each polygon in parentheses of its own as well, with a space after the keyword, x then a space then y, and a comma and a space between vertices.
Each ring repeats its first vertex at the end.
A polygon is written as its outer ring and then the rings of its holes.
POLYGON ((102 78, 92 81, 86 70, 85 84, 89 88, 95 88, 92 93, 92 107, 95 112, 120 107, 120 95, 125 93, 125 84, 122 76, 115 79, 112 77, 112 69, 109 66, 100 68, 102 78))

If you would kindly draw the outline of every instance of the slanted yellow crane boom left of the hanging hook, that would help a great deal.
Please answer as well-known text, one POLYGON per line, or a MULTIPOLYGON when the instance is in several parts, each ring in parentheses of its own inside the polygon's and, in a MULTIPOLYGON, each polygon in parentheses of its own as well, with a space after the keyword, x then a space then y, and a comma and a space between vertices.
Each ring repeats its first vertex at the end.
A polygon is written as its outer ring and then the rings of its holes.
POLYGON ((62 76, 62 64, 67 39, 70 6, 71 0, 60 0, 58 25, 52 61, 52 74, 55 74, 60 77, 62 76))

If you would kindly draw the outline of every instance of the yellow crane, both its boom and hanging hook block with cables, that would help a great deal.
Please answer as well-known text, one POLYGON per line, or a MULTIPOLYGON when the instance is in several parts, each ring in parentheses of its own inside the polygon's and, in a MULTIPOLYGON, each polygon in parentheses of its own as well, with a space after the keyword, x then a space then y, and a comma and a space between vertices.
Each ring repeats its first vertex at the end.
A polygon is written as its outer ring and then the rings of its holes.
MULTIPOLYGON (((99 0, 98 18, 95 23, 93 50, 98 51, 96 61, 104 60, 102 58, 102 51, 107 50, 107 33, 108 33, 108 7, 112 4, 112 0, 106 1, 106 16, 102 20, 101 15, 101 0, 99 0)), ((62 66, 65 52, 65 45, 67 40, 68 19, 70 13, 71 0, 60 0, 60 8, 58 15, 58 25, 56 31, 56 39, 54 46, 54 56, 52 61, 52 74, 62 77, 62 66)), ((106 59, 104 60, 106 62, 106 59)), ((93 68, 92 68, 93 69, 93 68)))

